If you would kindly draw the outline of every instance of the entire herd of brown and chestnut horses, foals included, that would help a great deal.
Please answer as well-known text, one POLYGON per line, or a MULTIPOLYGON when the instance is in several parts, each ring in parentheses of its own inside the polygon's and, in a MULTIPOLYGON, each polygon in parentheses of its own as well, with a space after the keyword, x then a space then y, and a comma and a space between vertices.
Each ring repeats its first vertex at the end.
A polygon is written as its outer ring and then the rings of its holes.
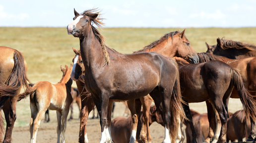
MULTIPOLYGON (((30 95, 30 142, 36 143, 40 122, 50 109, 57 111, 57 143, 64 143, 73 101, 72 81, 81 97, 79 143, 88 143, 86 124, 95 105, 100 115, 100 143, 151 143, 149 125, 154 121, 165 129, 162 143, 183 142, 183 123, 187 126, 187 143, 225 143, 233 141, 235 134, 241 141, 244 133, 238 130, 247 130, 247 141, 256 141, 254 45, 217 39, 217 45, 206 44, 207 52, 196 53, 184 30, 122 54, 107 47, 92 25, 103 26, 97 9, 81 14, 74 10, 74 15, 67 32, 79 38, 80 49, 73 48, 73 65, 61 66, 63 78, 57 84, 37 82, 29 87, 22 54, 0 47, 0 109, 6 120, 5 136, 0 141, 11 142, 16 102, 30 95), (27 90, 20 94, 22 87, 27 90), (240 98, 244 110, 229 113, 230 97, 240 98), (114 101, 127 101, 131 117, 111 121, 114 101), (190 110, 189 103, 203 101, 207 116, 190 110), (229 132, 232 127, 233 132, 229 132)), ((0 127, 3 135, 2 117, 0 127)))

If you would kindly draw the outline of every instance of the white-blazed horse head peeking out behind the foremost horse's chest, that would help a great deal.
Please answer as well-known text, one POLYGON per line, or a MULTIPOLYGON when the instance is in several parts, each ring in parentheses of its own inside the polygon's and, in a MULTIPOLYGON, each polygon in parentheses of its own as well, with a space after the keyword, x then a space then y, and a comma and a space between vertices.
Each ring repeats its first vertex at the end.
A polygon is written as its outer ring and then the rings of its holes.
POLYGON ((76 50, 75 48, 73 48, 73 51, 75 53, 75 56, 73 58, 73 68, 72 68, 72 73, 71 73, 71 79, 73 81, 77 81, 79 76, 84 73, 85 69, 84 69, 84 64, 83 64, 83 60, 81 57, 81 53, 80 50, 76 50))

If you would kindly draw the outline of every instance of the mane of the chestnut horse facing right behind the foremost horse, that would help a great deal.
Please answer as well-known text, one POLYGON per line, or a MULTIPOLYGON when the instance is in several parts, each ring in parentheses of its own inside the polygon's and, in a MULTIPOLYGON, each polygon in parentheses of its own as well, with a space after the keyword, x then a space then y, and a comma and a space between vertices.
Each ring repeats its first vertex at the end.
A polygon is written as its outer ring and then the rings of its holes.
POLYGON ((159 43, 169 39, 169 37, 172 37, 176 34, 178 34, 179 31, 175 31, 175 32, 170 32, 168 34, 165 34, 163 37, 161 37, 159 40, 155 41, 155 42, 152 42, 151 44, 149 44, 148 46, 145 46, 144 48, 138 50, 138 51, 134 51, 133 53, 136 53, 136 52, 141 52, 141 51, 150 51, 151 48, 155 48, 159 43))

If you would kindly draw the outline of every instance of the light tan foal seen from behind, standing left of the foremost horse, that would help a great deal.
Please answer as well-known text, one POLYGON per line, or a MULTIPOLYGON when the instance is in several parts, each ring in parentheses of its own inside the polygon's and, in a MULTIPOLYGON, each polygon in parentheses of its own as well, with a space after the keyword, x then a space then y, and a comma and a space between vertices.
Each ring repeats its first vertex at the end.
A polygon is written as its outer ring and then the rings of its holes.
POLYGON ((57 111, 57 143, 64 143, 66 118, 69 106, 73 101, 71 96, 72 80, 70 79, 72 64, 69 67, 65 66, 65 68, 61 66, 61 71, 63 77, 59 83, 37 82, 22 94, 23 96, 30 95, 30 143, 36 143, 37 131, 47 109, 57 111))

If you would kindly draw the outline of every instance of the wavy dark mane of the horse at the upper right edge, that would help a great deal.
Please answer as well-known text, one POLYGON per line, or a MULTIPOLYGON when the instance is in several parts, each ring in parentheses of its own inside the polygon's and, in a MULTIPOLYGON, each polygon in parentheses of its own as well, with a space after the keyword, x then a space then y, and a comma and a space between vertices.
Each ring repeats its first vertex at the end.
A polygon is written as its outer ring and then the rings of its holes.
POLYGON ((223 47, 220 47, 222 49, 228 49, 228 48, 235 48, 235 49, 242 49, 246 48, 248 50, 256 50, 256 46, 253 44, 248 44, 248 43, 242 43, 238 41, 232 41, 232 40, 226 40, 226 39, 221 39, 221 43, 223 44, 223 47))

